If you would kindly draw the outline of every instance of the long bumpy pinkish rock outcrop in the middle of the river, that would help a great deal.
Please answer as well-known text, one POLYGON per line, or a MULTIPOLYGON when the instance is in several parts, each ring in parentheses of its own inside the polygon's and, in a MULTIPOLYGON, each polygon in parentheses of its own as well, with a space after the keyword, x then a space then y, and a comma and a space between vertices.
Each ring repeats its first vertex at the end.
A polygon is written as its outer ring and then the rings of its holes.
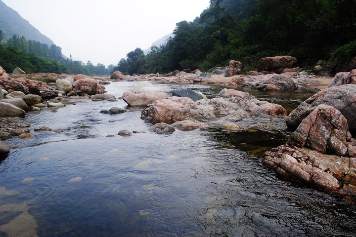
POLYGON ((223 89, 218 98, 194 102, 187 97, 173 96, 146 106, 141 118, 152 122, 174 123, 182 120, 207 121, 226 117, 239 121, 256 115, 287 115, 288 111, 277 104, 259 101, 249 93, 223 89))

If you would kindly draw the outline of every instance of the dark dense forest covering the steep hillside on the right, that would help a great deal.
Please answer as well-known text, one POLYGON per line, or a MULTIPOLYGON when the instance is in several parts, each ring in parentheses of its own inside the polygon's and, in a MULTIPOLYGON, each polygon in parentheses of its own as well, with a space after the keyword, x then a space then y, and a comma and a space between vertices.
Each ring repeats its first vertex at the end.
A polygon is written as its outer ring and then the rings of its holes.
POLYGON ((323 60, 332 73, 356 61, 355 0, 210 0, 193 22, 177 23, 174 37, 144 55, 127 54, 114 70, 124 74, 226 66, 239 60, 244 71, 260 58, 289 55, 312 68, 323 60))

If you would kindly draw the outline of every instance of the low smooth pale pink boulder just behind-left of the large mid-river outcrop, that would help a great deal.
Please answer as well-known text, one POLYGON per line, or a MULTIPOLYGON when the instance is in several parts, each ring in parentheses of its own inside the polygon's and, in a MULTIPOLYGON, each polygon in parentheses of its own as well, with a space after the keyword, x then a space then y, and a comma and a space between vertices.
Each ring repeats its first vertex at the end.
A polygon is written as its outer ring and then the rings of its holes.
POLYGON ((125 91, 123 100, 130 106, 146 106, 156 100, 167 99, 168 95, 164 92, 143 92, 134 94, 130 91, 125 91))

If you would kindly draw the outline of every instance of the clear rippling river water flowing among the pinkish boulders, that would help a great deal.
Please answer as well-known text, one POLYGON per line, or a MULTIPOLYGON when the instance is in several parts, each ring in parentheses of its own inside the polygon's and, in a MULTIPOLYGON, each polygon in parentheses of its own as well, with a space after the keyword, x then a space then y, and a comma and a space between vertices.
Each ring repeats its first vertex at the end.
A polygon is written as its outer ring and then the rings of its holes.
MULTIPOLYGON (((116 97, 138 82, 106 86, 116 97)), ((222 87, 157 84, 167 93, 222 87)), ((312 92, 249 91, 294 109, 312 92)), ((29 113, 32 138, 0 162, 0 236, 355 236, 346 198, 277 178, 259 158, 291 134, 284 118, 254 117, 170 135, 148 132, 142 107, 89 99, 29 113), (128 109, 100 114, 111 107, 128 109), (120 130, 139 131, 130 137, 120 130), (21 234, 22 233, 22 234, 21 234)))

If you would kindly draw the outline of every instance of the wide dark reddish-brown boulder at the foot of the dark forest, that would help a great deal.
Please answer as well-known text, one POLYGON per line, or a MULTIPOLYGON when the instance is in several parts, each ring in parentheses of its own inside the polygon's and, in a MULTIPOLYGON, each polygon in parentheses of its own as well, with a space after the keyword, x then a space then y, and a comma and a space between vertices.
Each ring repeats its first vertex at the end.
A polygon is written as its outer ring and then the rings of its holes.
POLYGON ((286 68, 295 68, 298 60, 290 56, 261 58, 258 62, 257 72, 283 73, 286 68))

